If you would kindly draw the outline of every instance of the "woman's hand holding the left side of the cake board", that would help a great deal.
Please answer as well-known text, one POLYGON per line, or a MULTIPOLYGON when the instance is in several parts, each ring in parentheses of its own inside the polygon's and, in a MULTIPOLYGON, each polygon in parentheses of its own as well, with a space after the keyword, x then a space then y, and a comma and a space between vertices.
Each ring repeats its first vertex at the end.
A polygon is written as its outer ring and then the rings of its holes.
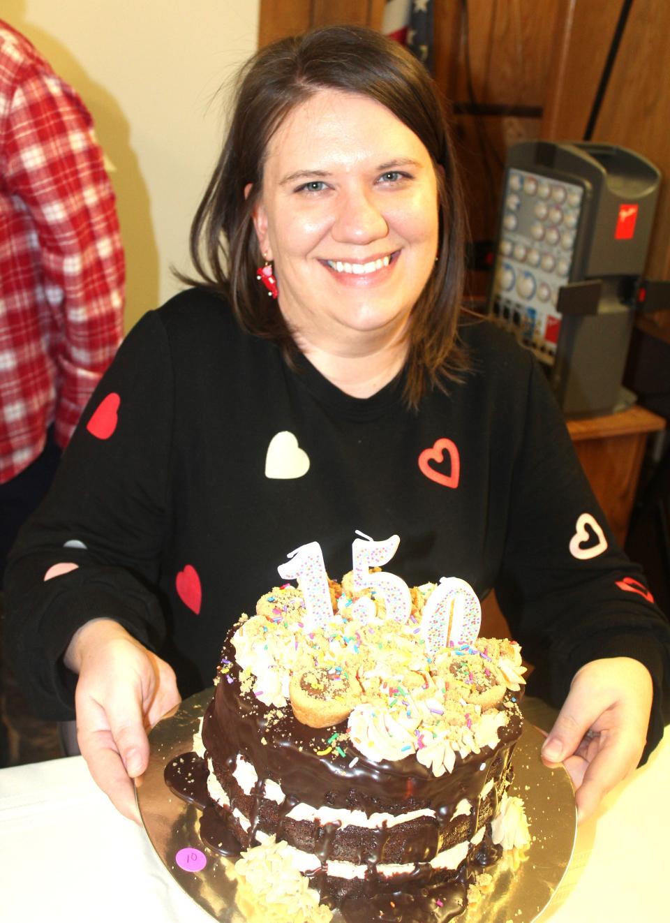
POLYGON ((149 764, 147 731, 181 701, 173 668, 109 618, 78 629, 65 663, 79 675, 81 755, 114 807, 139 823, 132 779, 149 764))

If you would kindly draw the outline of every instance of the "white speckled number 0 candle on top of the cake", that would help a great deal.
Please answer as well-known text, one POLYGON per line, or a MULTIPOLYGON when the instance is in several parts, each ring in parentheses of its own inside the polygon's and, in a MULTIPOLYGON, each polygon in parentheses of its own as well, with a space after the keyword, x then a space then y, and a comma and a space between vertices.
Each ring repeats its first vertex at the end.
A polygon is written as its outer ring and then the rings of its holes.
POLYGON ((449 642, 472 644, 482 624, 482 606, 470 583, 458 577, 441 577, 425 602, 421 637, 435 655, 449 642))

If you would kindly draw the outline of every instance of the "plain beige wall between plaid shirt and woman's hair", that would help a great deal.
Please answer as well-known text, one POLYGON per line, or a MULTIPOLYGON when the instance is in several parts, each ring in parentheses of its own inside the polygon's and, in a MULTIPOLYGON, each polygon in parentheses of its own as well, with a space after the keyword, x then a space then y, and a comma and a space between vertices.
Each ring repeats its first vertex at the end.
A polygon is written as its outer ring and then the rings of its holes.
POLYGON ((257 47, 258 0, 3 0, 71 83, 109 160, 126 246, 126 330, 178 291, 220 148, 222 83, 257 47), (216 97, 216 98, 215 98, 216 97))

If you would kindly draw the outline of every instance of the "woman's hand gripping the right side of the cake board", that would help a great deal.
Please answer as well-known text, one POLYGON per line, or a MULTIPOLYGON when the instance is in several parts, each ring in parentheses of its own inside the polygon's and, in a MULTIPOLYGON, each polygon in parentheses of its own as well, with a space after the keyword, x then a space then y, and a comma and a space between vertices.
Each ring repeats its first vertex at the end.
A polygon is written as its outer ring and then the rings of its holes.
POLYGON ((542 759, 548 766, 564 763, 580 822, 637 767, 651 711, 652 677, 638 660, 592 660, 575 674, 542 759))

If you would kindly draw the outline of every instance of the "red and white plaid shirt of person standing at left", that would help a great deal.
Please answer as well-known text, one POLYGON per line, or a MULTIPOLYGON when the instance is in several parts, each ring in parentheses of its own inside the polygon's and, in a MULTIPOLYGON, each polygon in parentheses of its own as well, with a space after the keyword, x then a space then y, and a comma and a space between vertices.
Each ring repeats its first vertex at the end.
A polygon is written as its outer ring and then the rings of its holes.
POLYGON ((0 20, 0 484, 66 446, 121 341, 124 253, 90 114, 0 20))

